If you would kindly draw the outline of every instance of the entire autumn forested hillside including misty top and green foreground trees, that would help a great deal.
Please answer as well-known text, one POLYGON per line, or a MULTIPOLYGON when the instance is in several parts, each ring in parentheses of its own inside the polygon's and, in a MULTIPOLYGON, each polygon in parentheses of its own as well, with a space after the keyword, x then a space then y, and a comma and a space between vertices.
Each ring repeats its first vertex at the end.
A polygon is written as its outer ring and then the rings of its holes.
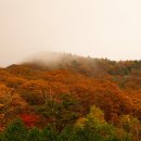
POLYGON ((0 68, 0 141, 139 141, 140 121, 141 61, 44 53, 0 68))

